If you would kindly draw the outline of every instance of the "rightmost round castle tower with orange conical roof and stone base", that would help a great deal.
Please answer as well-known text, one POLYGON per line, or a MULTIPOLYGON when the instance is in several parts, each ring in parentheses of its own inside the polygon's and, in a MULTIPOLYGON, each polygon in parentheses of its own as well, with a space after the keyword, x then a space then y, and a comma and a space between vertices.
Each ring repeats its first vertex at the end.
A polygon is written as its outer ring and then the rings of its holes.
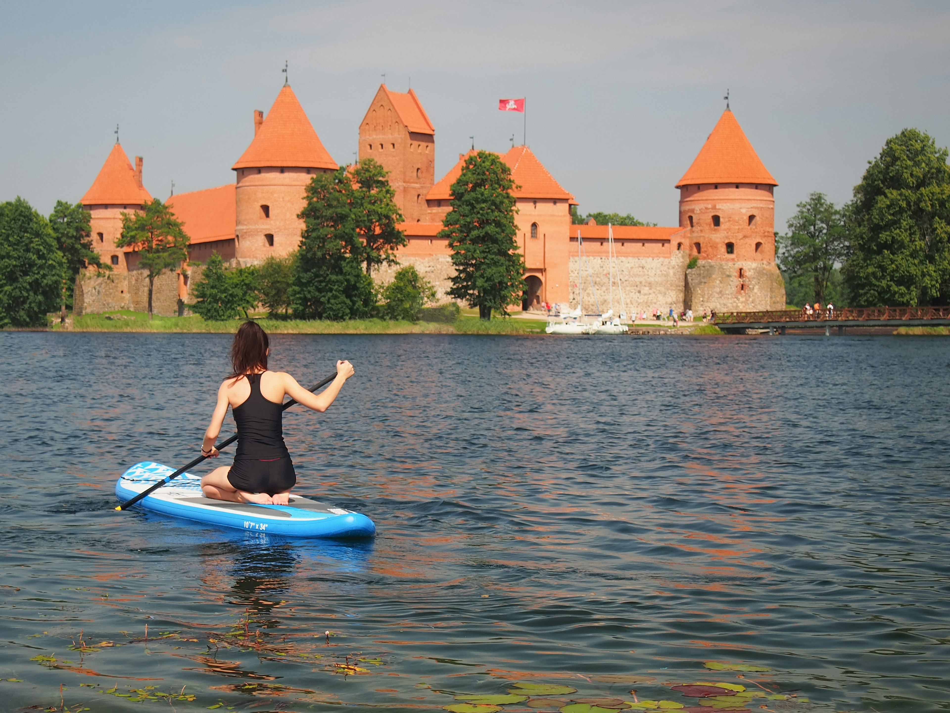
POLYGON ((727 106, 676 183, 679 226, 688 231, 690 257, 698 260, 686 273, 687 309, 785 308, 785 284, 775 265, 776 185, 727 106))

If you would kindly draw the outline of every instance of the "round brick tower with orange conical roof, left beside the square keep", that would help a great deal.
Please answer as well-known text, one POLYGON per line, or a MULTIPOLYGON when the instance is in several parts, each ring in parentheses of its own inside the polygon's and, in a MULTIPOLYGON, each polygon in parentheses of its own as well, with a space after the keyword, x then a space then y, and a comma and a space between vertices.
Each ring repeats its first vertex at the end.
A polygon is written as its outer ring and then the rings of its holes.
POLYGON ((235 257, 256 264, 283 257, 300 243, 304 188, 336 162, 314 131, 290 85, 267 116, 254 112, 254 140, 232 166, 237 173, 235 257))

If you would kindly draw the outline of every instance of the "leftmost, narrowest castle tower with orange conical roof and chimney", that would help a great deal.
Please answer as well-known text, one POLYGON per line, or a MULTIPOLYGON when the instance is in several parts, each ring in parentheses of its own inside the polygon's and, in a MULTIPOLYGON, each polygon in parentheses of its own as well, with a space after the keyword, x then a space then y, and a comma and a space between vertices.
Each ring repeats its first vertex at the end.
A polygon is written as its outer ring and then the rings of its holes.
POLYGON ((142 187, 142 157, 135 157, 133 168, 117 141, 96 180, 80 199, 90 214, 92 246, 105 264, 112 265, 113 272, 128 272, 124 251, 115 245, 122 235, 122 214, 141 210, 142 204, 151 200, 142 187))

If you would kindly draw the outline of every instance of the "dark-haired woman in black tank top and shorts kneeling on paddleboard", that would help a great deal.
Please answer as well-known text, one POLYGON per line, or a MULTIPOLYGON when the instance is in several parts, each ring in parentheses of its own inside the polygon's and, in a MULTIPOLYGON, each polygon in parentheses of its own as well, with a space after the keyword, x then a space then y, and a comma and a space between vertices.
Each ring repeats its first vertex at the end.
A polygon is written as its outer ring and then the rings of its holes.
POLYGON ((284 445, 284 396, 296 399, 314 411, 324 412, 353 376, 349 361, 336 362, 336 378, 319 394, 311 394, 295 378, 267 369, 270 355, 267 334, 257 322, 244 322, 231 345, 234 373, 218 389, 218 405, 204 433, 201 454, 218 457, 215 441, 231 407, 237 423, 237 453, 232 466, 217 468, 201 478, 205 497, 258 505, 287 505, 295 486, 296 472, 284 445))

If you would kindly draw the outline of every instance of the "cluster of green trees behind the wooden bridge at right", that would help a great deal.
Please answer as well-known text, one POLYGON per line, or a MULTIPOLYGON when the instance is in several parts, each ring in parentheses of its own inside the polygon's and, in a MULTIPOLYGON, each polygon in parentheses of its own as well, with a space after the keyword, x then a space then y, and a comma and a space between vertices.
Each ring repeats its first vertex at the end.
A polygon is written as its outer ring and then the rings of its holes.
POLYGON ((797 208, 775 236, 788 303, 950 303, 950 166, 925 132, 888 139, 845 205, 815 192, 797 208))

